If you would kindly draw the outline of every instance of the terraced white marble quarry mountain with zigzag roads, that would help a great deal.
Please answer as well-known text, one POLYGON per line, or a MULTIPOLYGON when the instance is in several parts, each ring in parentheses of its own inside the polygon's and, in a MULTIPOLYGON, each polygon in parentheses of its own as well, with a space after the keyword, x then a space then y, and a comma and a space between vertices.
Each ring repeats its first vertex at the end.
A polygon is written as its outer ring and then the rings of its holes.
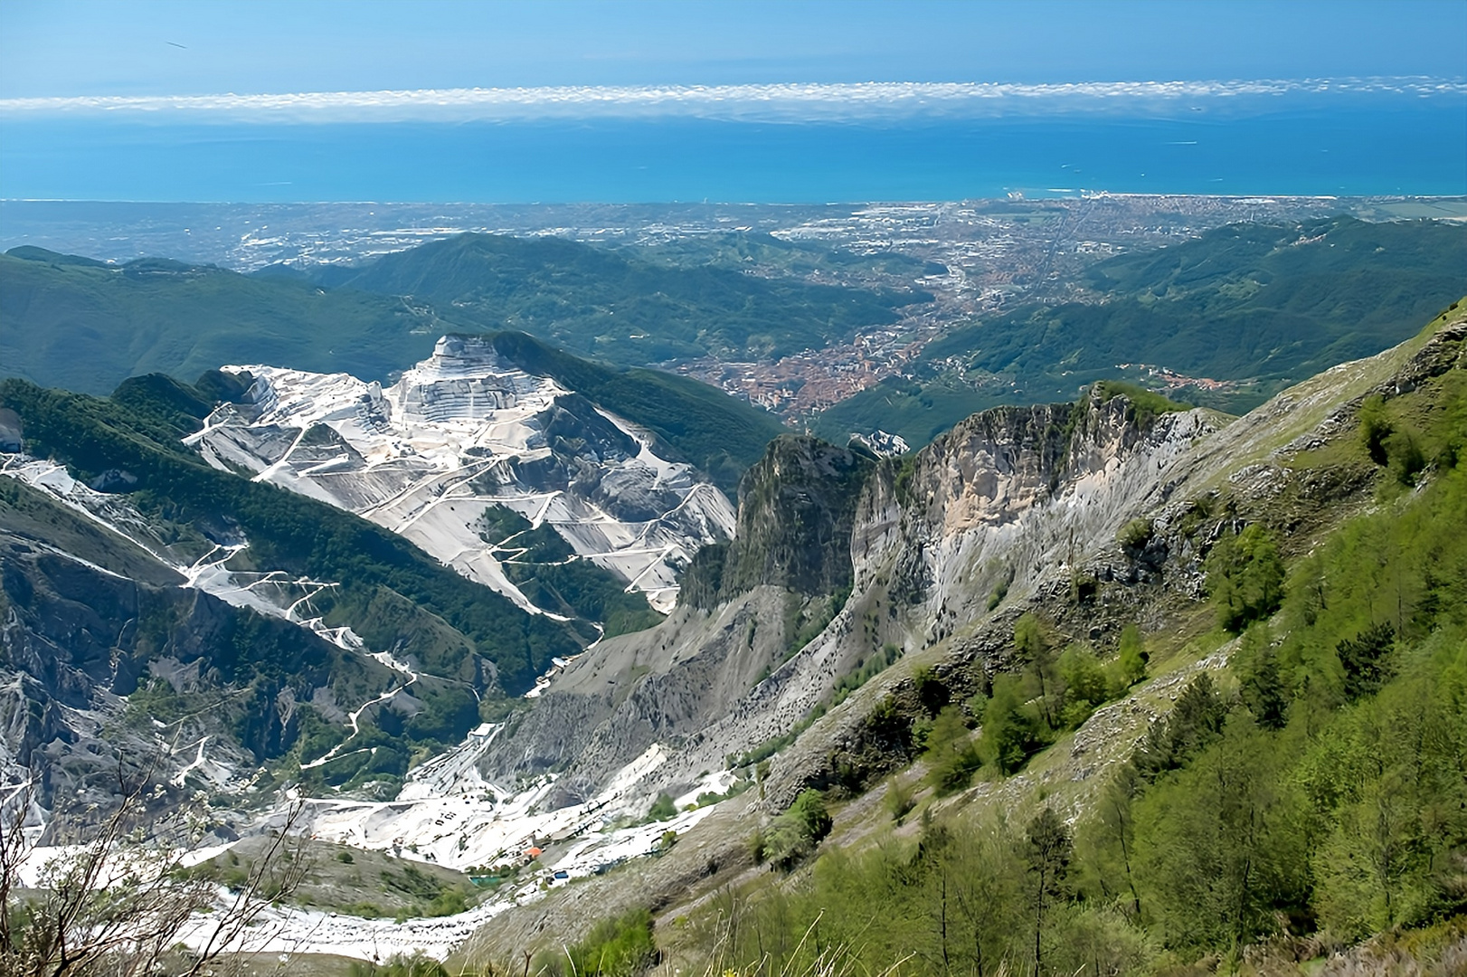
POLYGON ((478 531, 506 506, 663 612, 678 571, 734 533, 734 508, 653 439, 483 339, 445 336, 383 389, 345 373, 224 367, 249 374, 249 403, 214 411, 188 439, 220 468, 365 516, 445 565, 544 613, 503 572, 511 550, 478 531))

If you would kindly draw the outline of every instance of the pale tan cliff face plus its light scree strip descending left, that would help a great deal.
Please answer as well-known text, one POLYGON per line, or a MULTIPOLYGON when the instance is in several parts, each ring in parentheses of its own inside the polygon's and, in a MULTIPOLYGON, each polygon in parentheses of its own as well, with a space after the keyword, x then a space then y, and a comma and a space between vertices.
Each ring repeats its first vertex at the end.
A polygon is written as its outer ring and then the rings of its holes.
MULTIPOLYGON (((1134 560, 1119 571, 1096 560, 1116 549, 1116 531, 1143 512, 1166 465, 1215 430, 1204 411, 1162 415, 1143 430, 1124 398, 1093 396, 986 411, 915 456, 885 462, 855 508, 845 609, 706 738, 736 753, 782 735, 889 644, 908 654, 955 648, 965 675, 952 694, 971 694, 1005 665, 1012 619, 1030 601, 1068 603, 1077 584, 1097 575, 1140 579, 1134 560)), ((822 726, 839 728, 839 716, 851 728, 810 747, 826 755, 805 755, 797 744, 776 761, 770 804, 830 776, 842 748, 861 748, 860 709, 842 706, 822 726)), ((689 753, 687 766, 711 760, 689 753)))

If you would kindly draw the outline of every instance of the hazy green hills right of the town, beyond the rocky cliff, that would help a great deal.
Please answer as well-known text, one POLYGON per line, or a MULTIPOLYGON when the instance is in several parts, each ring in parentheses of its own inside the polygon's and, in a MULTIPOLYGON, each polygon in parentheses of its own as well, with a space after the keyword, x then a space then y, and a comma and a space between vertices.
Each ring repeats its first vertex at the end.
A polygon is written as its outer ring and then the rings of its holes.
POLYGON ((1086 274, 1093 301, 1030 304, 952 329, 923 351, 912 377, 836 405, 819 430, 883 427, 923 444, 974 411, 1065 400, 1121 376, 1244 412, 1408 339, 1464 282, 1463 224, 1229 224, 1096 264, 1086 274))

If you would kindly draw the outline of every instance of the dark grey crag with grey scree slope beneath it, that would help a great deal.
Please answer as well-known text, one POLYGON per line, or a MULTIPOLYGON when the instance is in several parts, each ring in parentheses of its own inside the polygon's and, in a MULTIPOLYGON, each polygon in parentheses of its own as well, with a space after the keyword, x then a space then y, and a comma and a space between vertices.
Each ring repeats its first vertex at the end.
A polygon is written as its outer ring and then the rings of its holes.
POLYGON ((734 541, 698 553, 673 615, 572 662, 481 769, 499 777, 563 769, 560 797, 572 801, 653 744, 703 744, 709 723, 839 610, 857 500, 874 465, 810 437, 775 440, 739 483, 734 541))

